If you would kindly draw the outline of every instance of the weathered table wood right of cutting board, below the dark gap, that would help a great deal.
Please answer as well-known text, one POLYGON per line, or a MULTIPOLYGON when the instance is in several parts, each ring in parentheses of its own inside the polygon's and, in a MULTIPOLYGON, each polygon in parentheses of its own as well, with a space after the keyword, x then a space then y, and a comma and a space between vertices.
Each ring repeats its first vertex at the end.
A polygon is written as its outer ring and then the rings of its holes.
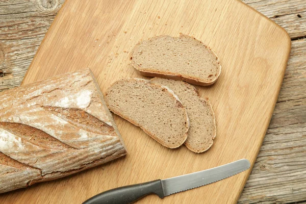
POLYGON ((292 42, 281 92, 239 203, 306 200, 306 39, 292 42))

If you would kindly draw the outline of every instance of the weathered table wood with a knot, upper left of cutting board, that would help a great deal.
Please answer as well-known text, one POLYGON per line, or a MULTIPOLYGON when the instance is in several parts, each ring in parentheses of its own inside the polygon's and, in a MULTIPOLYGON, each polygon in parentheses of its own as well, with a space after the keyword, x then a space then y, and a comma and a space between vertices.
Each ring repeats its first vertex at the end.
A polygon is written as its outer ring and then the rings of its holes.
POLYGON ((64 0, 0 1, 0 91, 19 86, 64 0))

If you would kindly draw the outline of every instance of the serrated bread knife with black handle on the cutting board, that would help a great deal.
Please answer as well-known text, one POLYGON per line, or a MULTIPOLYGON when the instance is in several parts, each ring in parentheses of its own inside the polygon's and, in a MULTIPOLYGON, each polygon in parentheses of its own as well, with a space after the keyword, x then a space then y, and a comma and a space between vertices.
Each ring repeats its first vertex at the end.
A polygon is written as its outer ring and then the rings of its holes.
POLYGON ((215 168, 180 175, 170 179, 155 180, 111 189, 89 198, 83 204, 127 204, 133 203, 148 194, 157 194, 160 198, 164 198, 174 193, 226 179, 248 168, 250 168, 250 162, 247 159, 241 159, 215 168))

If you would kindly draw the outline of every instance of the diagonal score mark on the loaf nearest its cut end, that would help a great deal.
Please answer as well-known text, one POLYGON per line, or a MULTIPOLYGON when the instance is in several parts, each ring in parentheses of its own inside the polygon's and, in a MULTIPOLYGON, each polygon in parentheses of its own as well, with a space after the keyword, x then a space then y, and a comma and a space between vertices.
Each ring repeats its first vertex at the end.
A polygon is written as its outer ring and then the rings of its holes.
POLYGON ((43 108, 66 122, 85 131, 100 135, 116 136, 114 127, 83 110, 53 106, 44 106, 43 108))

